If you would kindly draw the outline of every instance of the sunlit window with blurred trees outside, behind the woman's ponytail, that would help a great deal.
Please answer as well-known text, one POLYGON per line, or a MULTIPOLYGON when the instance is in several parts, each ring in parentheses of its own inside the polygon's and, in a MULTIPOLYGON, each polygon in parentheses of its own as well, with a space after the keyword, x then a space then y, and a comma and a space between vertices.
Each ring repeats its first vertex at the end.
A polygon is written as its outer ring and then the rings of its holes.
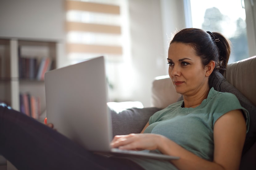
POLYGON ((220 32, 232 43, 230 62, 249 57, 246 13, 241 0, 190 0, 192 26, 220 32))

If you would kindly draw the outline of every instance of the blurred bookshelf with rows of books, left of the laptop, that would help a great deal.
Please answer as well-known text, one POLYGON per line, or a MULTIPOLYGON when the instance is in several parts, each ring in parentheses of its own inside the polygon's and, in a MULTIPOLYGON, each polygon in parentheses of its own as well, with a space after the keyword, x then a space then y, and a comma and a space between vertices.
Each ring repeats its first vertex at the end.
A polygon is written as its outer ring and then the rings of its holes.
POLYGON ((0 37, 0 101, 43 121, 44 73, 56 68, 58 48, 54 41, 0 37))

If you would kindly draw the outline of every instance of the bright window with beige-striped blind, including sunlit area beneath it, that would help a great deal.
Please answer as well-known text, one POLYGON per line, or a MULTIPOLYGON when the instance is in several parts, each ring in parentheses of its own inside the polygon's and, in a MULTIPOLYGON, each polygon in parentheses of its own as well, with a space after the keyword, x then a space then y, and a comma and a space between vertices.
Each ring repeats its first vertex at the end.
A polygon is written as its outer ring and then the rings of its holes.
POLYGON ((126 76, 120 68, 130 64, 127 4, 127 0, 66 0, 68 60, 75 64, 105 56, 109 101, 121 96, 118 85, 126 82, 126 76))

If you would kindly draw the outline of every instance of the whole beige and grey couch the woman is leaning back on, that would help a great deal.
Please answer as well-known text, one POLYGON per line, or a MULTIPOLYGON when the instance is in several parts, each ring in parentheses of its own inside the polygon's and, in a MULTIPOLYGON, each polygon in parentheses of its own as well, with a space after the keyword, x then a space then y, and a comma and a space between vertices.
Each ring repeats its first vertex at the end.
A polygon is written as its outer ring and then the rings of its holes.
MULTIPOLYGON (((218 91, 234 93, 241 105, 249 111, 250 130, 246 135, 240 170, 255 170, 256 56, 229 64, 223 76, 219 72, 214 72, 209 85, 218 91)), ((182 96, 175 92, 169 76, 156 77, 152 83, 151 94, 152 107, 116 111, 116 108, 109 106, 113 136, 141 132, 152 114, 182 99, 182 96)))

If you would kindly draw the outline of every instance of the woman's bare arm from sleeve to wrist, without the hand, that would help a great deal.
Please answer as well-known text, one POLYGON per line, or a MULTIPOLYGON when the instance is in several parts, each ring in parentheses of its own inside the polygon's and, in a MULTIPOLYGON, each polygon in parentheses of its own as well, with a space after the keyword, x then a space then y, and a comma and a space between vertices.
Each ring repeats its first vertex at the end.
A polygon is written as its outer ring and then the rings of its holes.
POLYGON ((174 142, 165 142, 162 152, 179 156, 180 160, 173 160, 172 163, 180 170, 238 170, 246 136, 246 122, 242 112, 233 110, 221 116, 214 125, 213 135, 213 162, 203 160, 177 144, 175 146, 172 144, 174 142))

